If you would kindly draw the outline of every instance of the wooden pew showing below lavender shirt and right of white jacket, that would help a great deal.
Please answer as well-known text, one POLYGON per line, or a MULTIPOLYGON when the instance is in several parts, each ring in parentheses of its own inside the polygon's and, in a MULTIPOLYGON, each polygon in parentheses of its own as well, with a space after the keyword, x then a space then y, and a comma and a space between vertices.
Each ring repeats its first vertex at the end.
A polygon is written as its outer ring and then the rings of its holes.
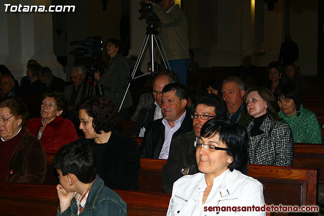
MULTIPOLYGON (((141 158, 139 190, 161 191, 161 172, 166 160, 141 158)), ((249 176, 264 185, 265 202, 315 205, 317 171, 309 168, 248 164, 249 176)))

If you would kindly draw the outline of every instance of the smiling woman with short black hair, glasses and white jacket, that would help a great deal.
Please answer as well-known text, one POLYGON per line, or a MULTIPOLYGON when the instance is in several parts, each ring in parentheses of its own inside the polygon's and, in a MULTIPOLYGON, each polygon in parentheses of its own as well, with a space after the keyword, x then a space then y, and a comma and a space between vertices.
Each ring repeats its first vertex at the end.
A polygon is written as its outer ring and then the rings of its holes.
MULTIPOLYGON (((263 206, 262 184, 237 170, 248 159, 246 129, 220 119, 210 119, 194 142, 199 173, 183 176, 173 185, 167 215, 216 215, 209 206, 263 206), (209 214, 212 213, 212 214, 209 214)), ((265 212, 236 212, 265 215, 265 212)), ((221 215, 233 215, 221 212, 221 215)))

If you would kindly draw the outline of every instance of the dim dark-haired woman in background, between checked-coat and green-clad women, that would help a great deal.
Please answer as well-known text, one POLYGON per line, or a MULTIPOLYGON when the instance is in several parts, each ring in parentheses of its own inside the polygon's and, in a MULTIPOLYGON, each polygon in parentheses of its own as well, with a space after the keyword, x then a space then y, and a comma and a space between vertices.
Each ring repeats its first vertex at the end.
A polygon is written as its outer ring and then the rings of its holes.
POLYGON ((281 76, 284 67, 280 62, 270 62, 267 68, 270 83, 268 89, 273 93, 274 98, 278 96, 278 89, 282 85, 281 76))

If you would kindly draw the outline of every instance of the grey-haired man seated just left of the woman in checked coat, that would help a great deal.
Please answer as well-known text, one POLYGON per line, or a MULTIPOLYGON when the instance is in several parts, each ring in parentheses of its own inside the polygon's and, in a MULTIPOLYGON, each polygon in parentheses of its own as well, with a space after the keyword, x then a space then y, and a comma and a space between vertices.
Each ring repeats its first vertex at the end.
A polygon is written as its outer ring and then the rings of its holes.
POLYGON ((240 78, 230 76, 223 81, 222 97, 227 106, 228 119, 247 126, 248 112, 244 104, 244 95, 245 85, 240 78))

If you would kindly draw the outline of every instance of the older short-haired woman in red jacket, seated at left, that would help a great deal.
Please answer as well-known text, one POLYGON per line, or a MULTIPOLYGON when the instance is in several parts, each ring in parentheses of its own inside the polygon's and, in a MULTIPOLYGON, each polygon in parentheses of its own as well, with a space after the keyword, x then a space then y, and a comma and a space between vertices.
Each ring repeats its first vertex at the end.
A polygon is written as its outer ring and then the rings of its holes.
POLYGON ((47 153, 56 153, 64 144, 77 140, 72 121, 62 118, 67 100, 62 92, 44 94, 41 116, 28 120, 29 132, 37 137, 47 153))

